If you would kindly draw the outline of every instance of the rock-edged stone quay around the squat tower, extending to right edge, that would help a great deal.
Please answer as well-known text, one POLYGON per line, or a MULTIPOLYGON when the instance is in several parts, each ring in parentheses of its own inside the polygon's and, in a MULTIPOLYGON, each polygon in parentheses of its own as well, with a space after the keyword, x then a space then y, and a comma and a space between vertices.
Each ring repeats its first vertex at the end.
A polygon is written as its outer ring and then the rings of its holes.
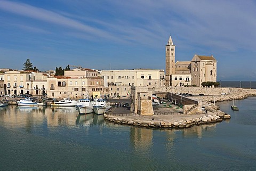
MULTIPOLYGON (((176 89, 180 93, 186 93, 187 88, 176 89)), ((243 88, 194 88, 195 93, 205 93, 204 96, 191 96, 191 99, 202 101, 205 111, 194 115, 185 115, 182 109, 169 101, 153 106, 154 115, 141 116, 130 111, 129 108, 112 108, 104 114, 104 118, 110 122, 122 125, 139 126, 146 128, 189 128, 194 125, 212 124, 230 119, 231 116, 219 110, 215 105, 218 101, 230 101, 233 99, 245 99, 248 96, 256 96, 256 89, 243 88), (223 93, 225 92, 225 93, 223 93)), ((171 91, 169 91, 171 92, 171 91)))

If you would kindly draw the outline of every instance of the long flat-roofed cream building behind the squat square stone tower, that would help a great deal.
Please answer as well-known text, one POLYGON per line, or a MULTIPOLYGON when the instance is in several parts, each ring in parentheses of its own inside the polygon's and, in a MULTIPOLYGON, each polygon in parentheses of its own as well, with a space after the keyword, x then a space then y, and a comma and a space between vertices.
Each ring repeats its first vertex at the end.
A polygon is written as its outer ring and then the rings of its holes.
POLYGON ((102 70, 101 77, 109 86, 110 97, 129 97, 131 87, 161 87, 164 86, 164 70, 132 69, 132 70, 102 70))

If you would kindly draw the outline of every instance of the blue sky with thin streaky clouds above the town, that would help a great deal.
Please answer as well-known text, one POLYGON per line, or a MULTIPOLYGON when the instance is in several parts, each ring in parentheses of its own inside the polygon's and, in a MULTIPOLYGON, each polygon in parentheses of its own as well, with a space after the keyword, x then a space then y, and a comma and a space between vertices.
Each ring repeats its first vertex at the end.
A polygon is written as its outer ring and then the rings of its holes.
POLYGON ((165 69, 213 55, 218 80, 256 80, 256 1, 0 0, 0 68, 165 69), (72 67, 71 67, 72 68, 72 67))

